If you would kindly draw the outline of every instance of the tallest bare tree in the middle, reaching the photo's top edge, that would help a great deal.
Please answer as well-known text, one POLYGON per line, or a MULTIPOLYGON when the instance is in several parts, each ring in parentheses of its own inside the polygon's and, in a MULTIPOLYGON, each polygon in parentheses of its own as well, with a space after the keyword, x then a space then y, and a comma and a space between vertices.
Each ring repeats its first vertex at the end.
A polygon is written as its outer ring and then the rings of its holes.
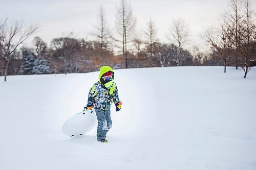
POLYGON ((120 6, 117 8, 116 15, 116 30, 122 40, 122 52, 125 58, 125 65, 127 66, 127 44, 132 42, 134 35, 136 20, 133 17, 132 8, 130 4, 127 4, 126 0, 120 0, 120 6))

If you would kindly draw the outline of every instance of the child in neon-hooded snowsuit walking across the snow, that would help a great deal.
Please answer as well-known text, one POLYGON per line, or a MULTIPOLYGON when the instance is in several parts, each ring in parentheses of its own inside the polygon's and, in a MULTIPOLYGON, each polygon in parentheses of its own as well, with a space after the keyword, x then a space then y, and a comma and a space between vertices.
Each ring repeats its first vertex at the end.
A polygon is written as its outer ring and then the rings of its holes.
POLYGON ((116 83, 113 81, 114 71, 110 66, 102 66, 99 73, 99 81, 91 88, 88 95, 88 104, 85 107, 91 110, 93 107, 98 119, 97 139, 100 142, 107 143, 106 133, 112 127, 110 117, 110 107, 114 102, 116 111, 121 109, 122 103, 119 101, 116 83))

